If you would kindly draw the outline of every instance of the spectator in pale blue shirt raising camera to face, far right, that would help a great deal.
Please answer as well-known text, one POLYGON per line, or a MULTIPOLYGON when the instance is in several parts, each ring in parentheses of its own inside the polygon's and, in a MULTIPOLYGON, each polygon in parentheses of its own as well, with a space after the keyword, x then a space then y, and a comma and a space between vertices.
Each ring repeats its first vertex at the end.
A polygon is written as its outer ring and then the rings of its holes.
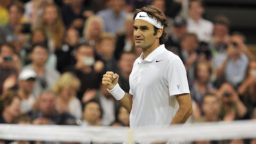
POLYGON ((214 59, 217 82, 221 83, 224 79, 237 89, 244 81, 249 62, 253 59, 254 56, 245 45, 244 35, 238 32, 233 33, 226 54, 214 59))

